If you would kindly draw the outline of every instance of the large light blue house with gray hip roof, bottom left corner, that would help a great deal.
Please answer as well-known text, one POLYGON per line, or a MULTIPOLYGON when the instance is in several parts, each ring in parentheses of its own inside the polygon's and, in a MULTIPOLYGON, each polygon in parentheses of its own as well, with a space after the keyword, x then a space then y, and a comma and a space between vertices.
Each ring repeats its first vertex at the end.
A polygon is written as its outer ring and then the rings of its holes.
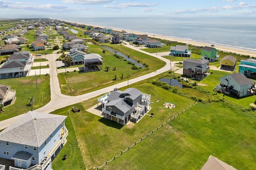
POLYGON ((13 165, 20 168, 51 170, 51 158, 68 136, 65 119, 62 115, 29 111, 0 132, 0 158, 13 160, 13 165))

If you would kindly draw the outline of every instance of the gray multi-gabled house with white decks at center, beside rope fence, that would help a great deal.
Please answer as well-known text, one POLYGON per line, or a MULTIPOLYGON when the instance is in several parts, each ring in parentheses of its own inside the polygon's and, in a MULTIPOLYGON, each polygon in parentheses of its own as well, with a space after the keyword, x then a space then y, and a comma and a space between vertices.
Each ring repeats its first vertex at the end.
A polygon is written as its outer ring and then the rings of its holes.
POLYGON ((114 89, 98 98, 98 103, 102 104, 104 118, 125 125, 130 120, 137 122, 146 115, 150 110, 150 100, 150 95, 128 88, 125 91, 114 89))

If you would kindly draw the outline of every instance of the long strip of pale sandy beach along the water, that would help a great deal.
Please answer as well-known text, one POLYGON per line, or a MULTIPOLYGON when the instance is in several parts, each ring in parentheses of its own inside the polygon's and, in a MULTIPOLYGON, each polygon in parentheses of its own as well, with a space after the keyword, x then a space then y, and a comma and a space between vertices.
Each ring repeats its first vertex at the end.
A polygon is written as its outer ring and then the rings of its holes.
MULTIPOLYGON (((100 25, 92 25, 92 24, 86 24, 86 23, 81 23, 81 22, 72 22, 72 21, 67 21, 67 20, 60 20, 63 22, 69 22, 69 23, 76 23, 76 24, 81 24, 81 25, 88 25, 88 26, 92 26, 92 27, 105 27, 105 26, 100 26, 100 25)), ((121 29, 121 28, 113 28, 113 27, 108 27, 111 28, 115 31, 126 31, 128 33, 133 33, 133 34, 138 34, 138 35, 145 35, 147 34, 148 37, 151 38, 159 38, 162 40, 169 40, 169 41, 176 41, 176 42, 181 42, 181 43, 186 43, 188 45, 195 45, 195 46, 208 46, 210 47, 209 43, 206 42, 198 42, 195 40, 184 40, 182 38, 175 38, 175 37, 170 37, 170 36, 164 36, 164 35, 157 35, 157 34, 152 34, 152 33, 146 33, 146 32, 139 32, 139 31, 134 31, 134 30, 125 30, 125 29, 121 29)), ((217 50, 220 51, 226 51, 226 52, 231 52, 231 53, 237 53, 240 55, 250 55, 251 57, 256 57, 256 51, 250 51, 250 50, 246 50, 246 49, 242 49, 242 48, 238 48, 238 47, 227 47, 224 45, 216 45, 214 44, 214 48, 216 48, 217 50)))

